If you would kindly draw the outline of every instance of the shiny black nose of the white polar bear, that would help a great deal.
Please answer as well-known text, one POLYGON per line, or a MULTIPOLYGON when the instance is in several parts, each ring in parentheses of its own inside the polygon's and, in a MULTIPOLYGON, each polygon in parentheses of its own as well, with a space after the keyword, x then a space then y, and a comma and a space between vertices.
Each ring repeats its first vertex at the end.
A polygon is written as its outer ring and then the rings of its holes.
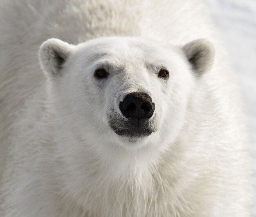
POLYGON ((124 117, 130 119, 148 119, 155 111, 155 103, 147 93, 129 93, 120 102, 119 108, 124 117))

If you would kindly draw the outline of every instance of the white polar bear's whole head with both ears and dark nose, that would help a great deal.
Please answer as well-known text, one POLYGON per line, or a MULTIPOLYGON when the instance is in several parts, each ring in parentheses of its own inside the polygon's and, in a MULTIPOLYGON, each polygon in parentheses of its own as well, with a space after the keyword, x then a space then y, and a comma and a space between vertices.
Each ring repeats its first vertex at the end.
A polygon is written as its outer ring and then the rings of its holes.
POLYGON ((60 124, 86 143, 132 149, 175 140, 213 56, 206 40, 178 47, 120 37, 50 39, 39 52, 60 124))

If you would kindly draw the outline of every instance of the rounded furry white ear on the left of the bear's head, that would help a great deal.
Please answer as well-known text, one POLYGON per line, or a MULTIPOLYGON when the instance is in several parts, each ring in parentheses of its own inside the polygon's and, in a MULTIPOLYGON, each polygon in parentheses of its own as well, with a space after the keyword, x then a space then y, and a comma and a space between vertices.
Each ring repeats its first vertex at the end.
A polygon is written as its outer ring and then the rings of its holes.
POLYGON ((56 38, 43 42, 39 49, 39 60, 42 69, 50 75, 61 75, 63 64, 72 51, 72 45, 56 38))

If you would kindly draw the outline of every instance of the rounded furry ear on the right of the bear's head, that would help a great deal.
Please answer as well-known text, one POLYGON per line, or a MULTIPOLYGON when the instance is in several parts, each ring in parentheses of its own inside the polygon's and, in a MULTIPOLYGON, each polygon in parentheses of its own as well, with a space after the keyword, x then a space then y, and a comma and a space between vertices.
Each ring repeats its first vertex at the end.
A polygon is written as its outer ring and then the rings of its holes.
POLYGON ((211 69, 215 56, 211 42, 205 39, 193 40, 185 44, 182 50, 196 75, 202 75, 211 69))

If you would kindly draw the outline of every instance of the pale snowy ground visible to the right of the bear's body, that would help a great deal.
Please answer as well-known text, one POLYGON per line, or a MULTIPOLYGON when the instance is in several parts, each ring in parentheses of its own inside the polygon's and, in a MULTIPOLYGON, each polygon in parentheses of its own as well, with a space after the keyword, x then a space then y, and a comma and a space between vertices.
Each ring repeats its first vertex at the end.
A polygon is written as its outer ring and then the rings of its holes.
MULTIPOLYGON (((240 82, 256 174, 256 0, 206 0, 240 82)), ((256 217, 256 175, 254 175, 256 217)))

